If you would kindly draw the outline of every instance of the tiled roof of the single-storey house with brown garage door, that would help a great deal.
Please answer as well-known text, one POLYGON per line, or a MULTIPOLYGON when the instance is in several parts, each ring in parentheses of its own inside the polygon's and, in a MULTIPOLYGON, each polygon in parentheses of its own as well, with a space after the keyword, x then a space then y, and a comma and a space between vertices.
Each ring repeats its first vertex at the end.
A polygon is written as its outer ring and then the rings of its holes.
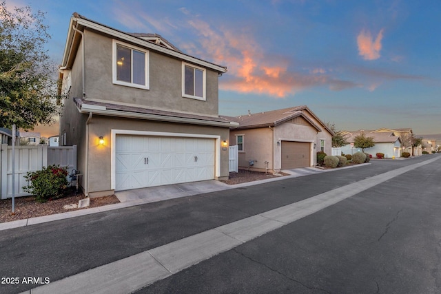
POLYGON ((257 127, 275 127, 298 116, 302 116, 302 118, 305 118, 305 120, 307 120, 308 123, 316 128, 318 132, 322 132, 322 128, 325 128, 328 132, 334 135, 334 132, 332 132, 331 129, 329 129, 324 123, 322 123, 322 121, 313 112, 311 112, 311 109, 309 109, 306 105, 271 110, 269 112, 259 112, 256 114, 249 113, 236 117, 223 117, 239 123, 238 129, 254 129, 257 127), (309 118, 309 116, 306 115, 305 112, 309 113, 310 116, 316 119, 320 123, 320 125, 309 118))

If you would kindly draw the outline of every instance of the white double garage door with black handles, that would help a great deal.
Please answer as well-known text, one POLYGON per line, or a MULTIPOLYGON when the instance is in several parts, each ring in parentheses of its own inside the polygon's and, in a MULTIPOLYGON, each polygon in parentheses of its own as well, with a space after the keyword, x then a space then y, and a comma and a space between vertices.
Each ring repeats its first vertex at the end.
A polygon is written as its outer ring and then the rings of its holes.
POLYGON ((214 179, 214 139, 116 136, 115 190, 214 179))

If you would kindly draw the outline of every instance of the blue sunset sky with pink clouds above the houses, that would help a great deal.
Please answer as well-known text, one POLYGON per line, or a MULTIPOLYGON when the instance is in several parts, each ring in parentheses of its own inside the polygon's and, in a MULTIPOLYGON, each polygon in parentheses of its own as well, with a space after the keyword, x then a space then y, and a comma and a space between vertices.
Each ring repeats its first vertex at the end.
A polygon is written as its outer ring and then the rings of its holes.
POLYGON ((337 129, 441 133, 441 1, 7 0, 46 13, 61 63, 73 12, 124 32, 156 32, 228 67, 219 112, 307 105, 337 129))

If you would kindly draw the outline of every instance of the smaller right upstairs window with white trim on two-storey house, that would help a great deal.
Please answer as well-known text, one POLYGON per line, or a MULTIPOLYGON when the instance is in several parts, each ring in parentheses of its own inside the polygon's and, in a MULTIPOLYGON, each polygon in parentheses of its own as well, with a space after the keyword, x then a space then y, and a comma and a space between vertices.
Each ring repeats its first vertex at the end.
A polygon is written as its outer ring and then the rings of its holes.
POLYGON ((182 76, 182 96, 205 101, 205 68, 182 63, 182 76))

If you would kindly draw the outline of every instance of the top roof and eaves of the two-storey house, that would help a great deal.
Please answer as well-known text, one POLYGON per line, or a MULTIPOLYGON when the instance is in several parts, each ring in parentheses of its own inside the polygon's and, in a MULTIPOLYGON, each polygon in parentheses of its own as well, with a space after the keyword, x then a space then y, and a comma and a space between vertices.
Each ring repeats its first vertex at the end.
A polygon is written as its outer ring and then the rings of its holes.
POLYGON ((84 28, 90 28, 91 30, 95 30, 96 32, 107 34, 111 38, 121 39, 128 43, 147 48, 148 50, 167 54, 176 59, 181 59, 182 61, 187 61, 201 67, 206 67, 218 73, 227 72, 227 67, 225 66, 216 65, 209 61, 204 61, 194 56, 184 54, 183 52, 179 51, 174 45, 172 45, 172 43, 166 41, 162 36, 158 34, 135 34, 136 36, 134 36, 133 33, 129 34, 127 32, 121 32, 120 30, 110 28, 107 25, 97 23, 96 21, 92 21, 91 19, 87 19, 86 17, 83 17, 76 12, 74 12, 74 14, 72 14, 72 17, 70 18, 69 31, 65 43, 61 67, 72 67, 72 63, 75 59, 75 52, 76 50, 78 50, 81 40, 79 33, 76 31, 83 32, 84 28), (153 39, 155 39, 154 42, 152 41, 153 39), (158 43, 156 43, 156 40, 159 40, 158 43))

